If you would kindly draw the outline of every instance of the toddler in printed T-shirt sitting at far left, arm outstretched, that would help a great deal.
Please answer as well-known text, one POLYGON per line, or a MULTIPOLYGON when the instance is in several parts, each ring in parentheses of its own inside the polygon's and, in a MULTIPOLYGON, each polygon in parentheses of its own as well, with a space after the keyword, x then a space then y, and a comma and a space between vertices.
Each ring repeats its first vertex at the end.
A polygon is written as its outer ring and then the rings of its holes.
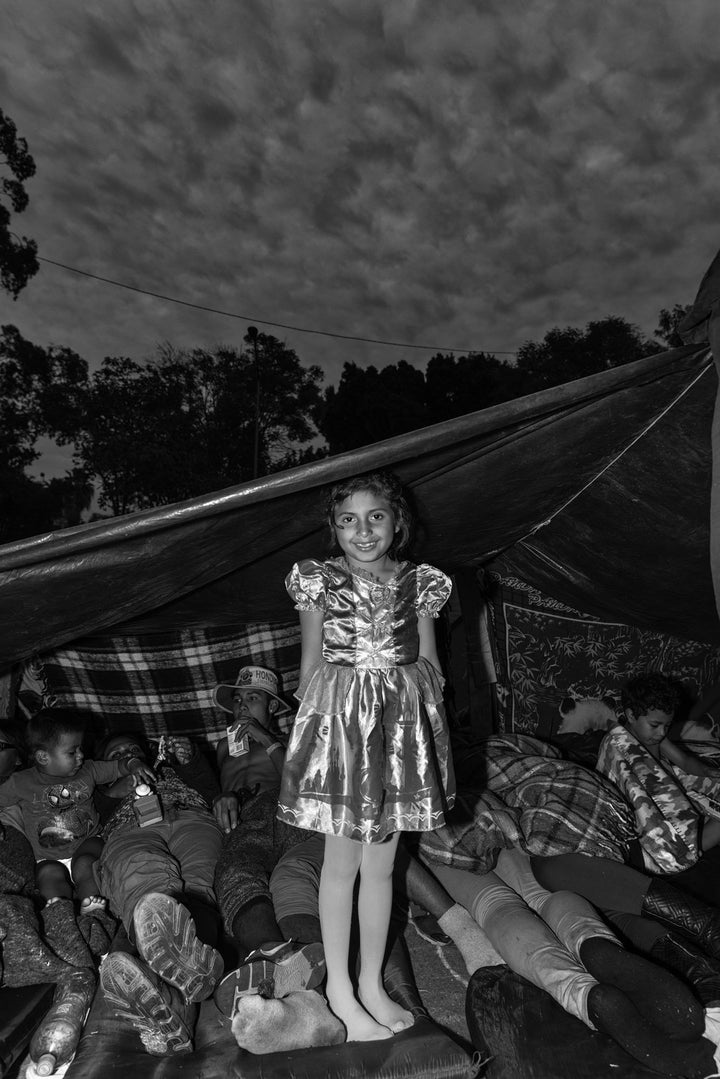
POLYGON ((0 786, 0 808, 17 807, 18 825, 37 860, 40 894, 47 902, 70 899, 74 883, 81 911, 90 913, 105 907, 93 876, 101 850, 95 788, 130 774, 152 778, 152 771, 139 757, 85 761, 84 727, 82 718, 71 711, 43 708, 37 712, 26 734, 32 764, 0 786))

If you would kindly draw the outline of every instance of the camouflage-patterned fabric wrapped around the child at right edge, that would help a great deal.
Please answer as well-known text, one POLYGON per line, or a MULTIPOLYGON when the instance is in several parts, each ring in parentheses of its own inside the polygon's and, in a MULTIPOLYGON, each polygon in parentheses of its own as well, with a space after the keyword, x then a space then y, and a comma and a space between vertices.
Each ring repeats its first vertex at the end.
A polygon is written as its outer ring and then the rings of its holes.
POLYGON ((720 819, 720 773, 707 779, 655 761, 621 724, 602 739, 597 767, 633 807, 647 870, 679 873, 697 861, 702 817, 720 819))

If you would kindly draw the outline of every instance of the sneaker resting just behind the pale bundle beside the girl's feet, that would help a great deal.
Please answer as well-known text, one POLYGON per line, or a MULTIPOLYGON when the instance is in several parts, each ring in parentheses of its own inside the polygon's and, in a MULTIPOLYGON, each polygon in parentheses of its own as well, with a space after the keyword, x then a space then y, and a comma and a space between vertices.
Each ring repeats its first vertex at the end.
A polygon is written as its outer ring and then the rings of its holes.
POLYGON ((215 1003, 223 1015, 233 1017, 241 997, 282 999, 299 989, 314 989, 325 978, 323 945, 285 941, 272 947, 259 947, 245 962, 222 979, 215 991, 215 1003))

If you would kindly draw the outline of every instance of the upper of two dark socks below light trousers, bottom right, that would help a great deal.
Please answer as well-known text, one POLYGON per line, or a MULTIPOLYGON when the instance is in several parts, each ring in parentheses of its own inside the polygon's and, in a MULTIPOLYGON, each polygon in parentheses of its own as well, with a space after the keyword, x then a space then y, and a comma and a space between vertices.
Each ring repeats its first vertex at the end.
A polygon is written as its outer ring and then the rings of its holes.
POLYGON ((598 982, 622 989, 640 1015, 663 1035, 687 1039, 703 1033, 702 1006, 690 987, 669 970, 603 937, 583 941, 580 959, 598 982))

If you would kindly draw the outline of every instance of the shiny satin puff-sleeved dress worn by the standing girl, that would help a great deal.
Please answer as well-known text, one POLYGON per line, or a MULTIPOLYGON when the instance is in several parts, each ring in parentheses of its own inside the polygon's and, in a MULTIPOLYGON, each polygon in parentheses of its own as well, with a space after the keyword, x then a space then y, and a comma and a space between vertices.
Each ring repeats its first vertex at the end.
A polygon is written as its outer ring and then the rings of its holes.
POLYGON ((285 584, 324 620, 322 660, 296 694, 279 818, 363 843, 439 828, 454 774, 444 680, 419 658, 418 617, 438 616, 449 577, 400 562, 382 584, 336 558, 296 563, 285 584))

